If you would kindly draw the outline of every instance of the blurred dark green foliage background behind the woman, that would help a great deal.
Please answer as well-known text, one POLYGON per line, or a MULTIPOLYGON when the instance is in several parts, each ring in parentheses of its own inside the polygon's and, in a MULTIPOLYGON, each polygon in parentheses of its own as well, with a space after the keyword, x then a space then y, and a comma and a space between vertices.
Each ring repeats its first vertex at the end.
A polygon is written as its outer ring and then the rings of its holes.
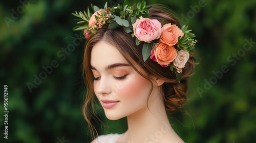
MULTIPOLYGON (((199 65, 187 94, 190 100, 183 110, 170 115, 176 132, 185 142, 254 142, 256 1, 146 2, 167 5, 181 19, 188 17, 183 23, 188 24, 199 41, 195 55, 199 65), (205 6, 193 11, 201 3, 205 6), (243 50, 245 39, 254 42, 247 51, 243 50), (219 73, 218 79, 214 73, 222 66, 228 71, 222 76, 219 73), (214 79, 217 83, 205 85, 214 79)), ((81 33, 72 31, 75 17, 71 13, 86 9, 91 3, 103 7, 105 1, 0 2, 0 142, 90 141, 80 109, 86 90, 80 69, 85 41, 75 36, 81 33), (21 2, 27 3, 23 6, 21 2), (17 10, 21 13, 12 18, 17 10), (6 22, 6 17, 13 21, 6 22), (62 51, 74 40, 80 44, 73 51, 62 51), (53 60, 58 67, 30 92, 27 83, 34 83, 35 76, 45 71, 42 66, 50 66, 53 60), (3 137, 4 84, 8 85, 8 139, 3 137)), ((109 121, 101 109, 98 111, 105 123, 96 123, 101 133, 126 130, 125 119, 109 121)))

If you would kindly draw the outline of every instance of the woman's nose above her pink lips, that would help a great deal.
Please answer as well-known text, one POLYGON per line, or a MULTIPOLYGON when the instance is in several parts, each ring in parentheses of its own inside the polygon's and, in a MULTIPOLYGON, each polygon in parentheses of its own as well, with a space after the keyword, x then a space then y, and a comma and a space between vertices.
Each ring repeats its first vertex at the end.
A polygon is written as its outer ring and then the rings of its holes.
POLYGON ((96 88, 97 94, 100 94, 100 95, 111 94, 111 88, 110 88, 110 84, 109 84, 108 80, 101 77, 101 79, 98 82, 99 83, 96 88))

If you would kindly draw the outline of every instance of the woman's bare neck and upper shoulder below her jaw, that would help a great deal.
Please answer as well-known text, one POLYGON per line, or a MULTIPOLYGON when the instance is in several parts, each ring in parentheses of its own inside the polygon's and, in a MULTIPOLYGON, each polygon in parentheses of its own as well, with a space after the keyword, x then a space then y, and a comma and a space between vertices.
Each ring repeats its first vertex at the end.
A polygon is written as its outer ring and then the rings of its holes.
POLYGON ((160 98, 153 101, 127 116, 128 130, 122 142, 183 142, 169 124, 163 101, 160 98))

